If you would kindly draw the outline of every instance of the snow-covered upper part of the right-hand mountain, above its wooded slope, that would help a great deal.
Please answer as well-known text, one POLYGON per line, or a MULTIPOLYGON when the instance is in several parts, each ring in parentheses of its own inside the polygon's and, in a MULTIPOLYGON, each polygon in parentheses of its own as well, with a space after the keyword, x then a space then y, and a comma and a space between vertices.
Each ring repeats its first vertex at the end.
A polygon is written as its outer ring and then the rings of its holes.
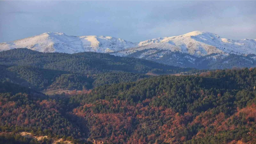
POLYGON ((205 31, 193 31, 180 36, 156 38, 140 42, 137 47, 113 53, 127 56, 145 49, 183 52, 200 57, 212 53, 256 54, 256 39, 231 40, 205 31))

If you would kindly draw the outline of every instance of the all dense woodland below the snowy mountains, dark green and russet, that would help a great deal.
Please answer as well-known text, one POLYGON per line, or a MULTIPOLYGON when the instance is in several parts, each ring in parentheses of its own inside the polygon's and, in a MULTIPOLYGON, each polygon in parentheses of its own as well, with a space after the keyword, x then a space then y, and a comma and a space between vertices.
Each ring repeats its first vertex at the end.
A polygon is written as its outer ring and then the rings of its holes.
MULTIPOLYGON (((51 53, 47 58, 48 54, 20 49, 0 55, 2 143, 51 143, 22 137, 20 132, 74 143, 256 143, 256 68, 148 76, 144 74, 155 68, 173 70, 159 65, 143 73, 140 68, 120 71, 113 66, 110 71, 87 73, 82 67, 66 69, 65 62, 55 65, 76 54, 51 53), (38 92, 78 87, 83 92, 68 97, 38 92)), ((93 57, 97 55, 105 57, 93 57)), ((134 59, 127 60, 131 65, 134 59)))

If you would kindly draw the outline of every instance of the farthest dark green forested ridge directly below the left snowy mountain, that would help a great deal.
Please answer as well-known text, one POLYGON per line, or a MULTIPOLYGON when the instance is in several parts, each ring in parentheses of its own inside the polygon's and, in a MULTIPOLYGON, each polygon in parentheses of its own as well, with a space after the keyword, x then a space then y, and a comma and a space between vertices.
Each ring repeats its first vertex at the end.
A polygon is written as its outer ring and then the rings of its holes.
POLYGON ((25 48, 0 52, 0 64, 7 66, 30 65, 38 68, 80 74, 97 74, 113 70, 141 74, 148 72, 168 74, 184 72, 191 69, 167 66, 136 58, 117 57, 105 53, 42 53, 25 48))

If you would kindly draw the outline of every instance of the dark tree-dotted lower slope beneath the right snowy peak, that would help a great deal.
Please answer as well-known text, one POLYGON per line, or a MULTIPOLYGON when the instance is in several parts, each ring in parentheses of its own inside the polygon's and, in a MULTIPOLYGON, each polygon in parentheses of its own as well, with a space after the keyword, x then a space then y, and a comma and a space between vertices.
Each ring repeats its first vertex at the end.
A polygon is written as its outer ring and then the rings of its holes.
POLYGON ((152 48, 134 52, 126 57, 141 58, 182 68, 230 69, 233 67, 250 68, 256 66, 255 54, 237 55, 212 53, 196 57, 187 53, 170 52, 169 50, 152 48))

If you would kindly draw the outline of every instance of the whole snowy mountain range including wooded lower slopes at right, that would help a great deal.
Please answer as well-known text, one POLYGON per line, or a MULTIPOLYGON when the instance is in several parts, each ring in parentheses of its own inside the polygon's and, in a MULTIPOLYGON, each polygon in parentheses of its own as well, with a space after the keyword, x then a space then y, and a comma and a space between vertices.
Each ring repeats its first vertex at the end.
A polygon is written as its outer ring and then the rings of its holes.
POLYGON ((256 39, 231 40, 205 31, 138 43, 111 36, 68 36, 48 32, 0 43, 0 51, 14 48, 28 48, 39 52, 110 53, 200 69, 252 67, 256 63, 256 39))

